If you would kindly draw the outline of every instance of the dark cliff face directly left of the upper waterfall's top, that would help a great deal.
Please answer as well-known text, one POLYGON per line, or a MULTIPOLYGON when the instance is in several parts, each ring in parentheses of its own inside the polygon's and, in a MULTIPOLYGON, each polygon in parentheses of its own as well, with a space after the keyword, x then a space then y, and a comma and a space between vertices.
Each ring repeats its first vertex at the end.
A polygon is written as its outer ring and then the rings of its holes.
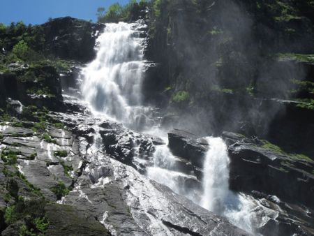
POLYGON ((43 24, 46 50, 64 59, 91 61, 96 56, 96 37, 103 28, 103 24, 93 24, 72 17, 54 19, 43 24))

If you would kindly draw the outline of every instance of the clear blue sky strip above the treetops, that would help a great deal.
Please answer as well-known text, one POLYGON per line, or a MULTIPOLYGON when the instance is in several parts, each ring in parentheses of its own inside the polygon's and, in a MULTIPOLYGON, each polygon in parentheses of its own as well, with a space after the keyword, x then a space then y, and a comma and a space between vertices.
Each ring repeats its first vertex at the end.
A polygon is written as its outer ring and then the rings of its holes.
POLYGON ((124 4, 128 0, 0 0, 0 22, 22 20, 25 24, 42 24, 49 17, 67 15, 96 21, 97 8, 107 8, 115 2, 124 4))

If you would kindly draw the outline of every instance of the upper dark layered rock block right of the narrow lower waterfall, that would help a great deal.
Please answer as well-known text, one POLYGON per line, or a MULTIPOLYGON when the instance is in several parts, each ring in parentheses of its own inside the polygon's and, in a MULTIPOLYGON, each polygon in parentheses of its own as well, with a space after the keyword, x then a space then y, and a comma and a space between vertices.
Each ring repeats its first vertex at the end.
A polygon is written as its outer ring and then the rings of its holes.
POLYGON ((263 191, 313 208, 314 162, 254 142, 245 142, 241 137, 228 147, 230 187, 236 191, 263 191))

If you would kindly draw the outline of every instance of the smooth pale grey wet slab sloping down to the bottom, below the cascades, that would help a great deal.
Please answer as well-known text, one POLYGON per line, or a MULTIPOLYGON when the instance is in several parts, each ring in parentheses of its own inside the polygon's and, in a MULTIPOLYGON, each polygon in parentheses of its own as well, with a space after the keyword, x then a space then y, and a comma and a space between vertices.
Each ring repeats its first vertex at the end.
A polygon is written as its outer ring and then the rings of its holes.
POLYGON ((248 235, 128 165, 99 153, 98 161, 62 202, 82 206, 113 235, 248 235))

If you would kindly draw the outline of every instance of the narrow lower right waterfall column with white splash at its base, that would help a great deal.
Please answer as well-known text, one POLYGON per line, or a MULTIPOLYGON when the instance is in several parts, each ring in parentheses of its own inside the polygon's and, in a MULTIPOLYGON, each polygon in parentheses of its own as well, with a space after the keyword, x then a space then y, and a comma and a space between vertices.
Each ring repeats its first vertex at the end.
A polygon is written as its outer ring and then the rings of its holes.
POLYGON ((256 206, 244 194, 229 190, 227 145, 222 138, 208 137, 209 151, 204 161, 203 195, 201 205, 234 225, 253 233, 251 219, 256 206))

